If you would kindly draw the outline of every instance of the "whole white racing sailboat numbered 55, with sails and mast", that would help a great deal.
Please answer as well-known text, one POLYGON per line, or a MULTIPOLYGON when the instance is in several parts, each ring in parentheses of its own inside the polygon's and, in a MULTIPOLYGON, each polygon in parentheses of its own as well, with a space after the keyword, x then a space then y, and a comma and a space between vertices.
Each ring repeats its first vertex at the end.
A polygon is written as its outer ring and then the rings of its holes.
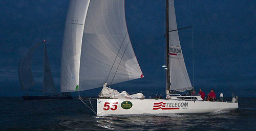
POLYGON ((143 78, 126 27, 124 0, 70 1, 61 56, 61 92, 103 87, 99 97, 81 97, 96 115, 211 113, 238 109, 232 101, 208 101, 191 90, 179 41, 173 0, 166 0, 166 98, 130 95, 108 85, 143 78), (103 85, 103 86, 102 86, 103 85), (97 101, 97 110, 92 100, 97 101), (91 106, 89 105, 91 104, 91 106))

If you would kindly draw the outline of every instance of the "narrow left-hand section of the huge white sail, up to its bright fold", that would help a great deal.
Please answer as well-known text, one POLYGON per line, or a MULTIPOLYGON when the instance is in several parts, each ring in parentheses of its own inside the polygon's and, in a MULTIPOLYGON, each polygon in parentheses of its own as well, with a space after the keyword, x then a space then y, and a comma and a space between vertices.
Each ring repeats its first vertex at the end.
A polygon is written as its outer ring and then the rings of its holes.
POLYGON ((61 55, 61 92, 79 85, 79 69, 84 21, 90 0, 72 0, 66 19, 61 55))

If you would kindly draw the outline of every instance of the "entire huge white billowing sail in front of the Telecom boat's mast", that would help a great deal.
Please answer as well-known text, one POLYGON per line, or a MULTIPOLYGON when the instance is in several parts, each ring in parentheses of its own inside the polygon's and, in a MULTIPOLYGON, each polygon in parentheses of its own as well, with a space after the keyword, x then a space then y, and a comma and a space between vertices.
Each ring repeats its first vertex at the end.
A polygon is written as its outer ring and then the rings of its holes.
POLYGON ((115 84, 143 77, 127 33, 124 0, 83 1, 72 7, 78 2, 70 1, 67 15, 61 58, 61 92, 89 90, 102 87, 104 83, 115 84), (73 12, 81 14, 75 18, 80 21, 76 33, 70 33, 70 19, 75 17, 73 12))

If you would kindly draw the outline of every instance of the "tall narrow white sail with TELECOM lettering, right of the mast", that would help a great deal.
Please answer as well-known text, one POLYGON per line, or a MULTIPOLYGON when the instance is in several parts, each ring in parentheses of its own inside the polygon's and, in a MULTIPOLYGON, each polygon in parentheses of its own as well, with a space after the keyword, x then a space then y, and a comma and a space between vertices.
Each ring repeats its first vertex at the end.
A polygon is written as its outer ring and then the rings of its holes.
MULTIPOLYGON (((169 0, 169 31, 177 30, 174 1, 169 0)), ((191 86, 182 55, 178 31, 169 32, 170 89, 180 92, 191 86)))

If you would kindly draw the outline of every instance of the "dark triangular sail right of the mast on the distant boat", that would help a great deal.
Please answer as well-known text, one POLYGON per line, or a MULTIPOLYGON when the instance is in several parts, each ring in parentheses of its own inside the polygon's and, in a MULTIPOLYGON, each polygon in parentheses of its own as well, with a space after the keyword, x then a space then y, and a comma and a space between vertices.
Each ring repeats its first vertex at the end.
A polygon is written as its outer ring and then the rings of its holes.
POLYGON ((45 62, 44 62, 44 90, 49 93, 57 93, 57 90, 54 86, 50 62, 48 59, 48 53, 45 45, 45 62))

